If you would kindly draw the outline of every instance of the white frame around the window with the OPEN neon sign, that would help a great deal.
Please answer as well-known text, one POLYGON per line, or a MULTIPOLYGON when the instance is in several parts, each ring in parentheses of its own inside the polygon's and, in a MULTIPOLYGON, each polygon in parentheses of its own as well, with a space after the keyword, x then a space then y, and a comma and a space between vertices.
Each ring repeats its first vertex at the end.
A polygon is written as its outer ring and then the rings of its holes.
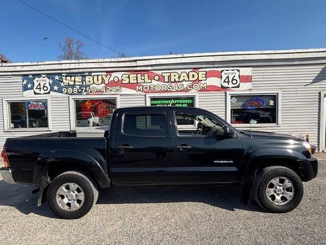
POLYGON ((232 125, 235 128, 239 128, 239 127, 252 127, 252 128, 261 128, 261 127, 281 127, 281 110, 282 110, 282 106, 281 106, 281 91, 280 90, 276 90, 276 91, 229 91, 226 92, 226 121, 232 125), (231 123, 231 96, 238 96, 238 95, 276 95, 276 100, 277 100, 277 104, 276 104, 276 123, 275 124, 232 124, 231 123))

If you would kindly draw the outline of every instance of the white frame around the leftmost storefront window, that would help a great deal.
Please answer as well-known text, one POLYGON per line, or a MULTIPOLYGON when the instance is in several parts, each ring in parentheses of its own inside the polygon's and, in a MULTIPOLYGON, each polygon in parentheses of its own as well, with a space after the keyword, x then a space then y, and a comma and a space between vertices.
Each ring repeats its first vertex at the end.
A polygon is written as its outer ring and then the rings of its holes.
POLYGON ((4 132, 35 132, 35 131, 51 131, 51 100, 49 96, 37 96, 37 97, 14 97, 3 98, 3 113, 4 113, 4 132), (46 101, 47 104, 47 128, 10 128, 11 116, 9 114, 9 103, 11 102, 26 102, 26 101, 46 101))

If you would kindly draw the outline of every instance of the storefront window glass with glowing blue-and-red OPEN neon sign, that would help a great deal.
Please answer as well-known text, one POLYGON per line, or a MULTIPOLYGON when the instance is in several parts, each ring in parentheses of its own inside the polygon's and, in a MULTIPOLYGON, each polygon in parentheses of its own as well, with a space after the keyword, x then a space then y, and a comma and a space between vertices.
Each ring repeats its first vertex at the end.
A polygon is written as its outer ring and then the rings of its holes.
POLYGON ((231 95, 232 124, 276 124, 277 95, 231 95))

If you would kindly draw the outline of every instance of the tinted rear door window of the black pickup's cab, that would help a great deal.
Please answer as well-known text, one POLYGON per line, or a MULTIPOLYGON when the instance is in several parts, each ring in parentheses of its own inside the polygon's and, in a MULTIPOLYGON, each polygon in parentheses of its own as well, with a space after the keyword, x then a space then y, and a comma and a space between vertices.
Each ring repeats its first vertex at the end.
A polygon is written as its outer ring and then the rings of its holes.
POLYGON ((126 112, 123 119, 123 133, 132 136, 166 137, 167 117, 164 112, 126 112))

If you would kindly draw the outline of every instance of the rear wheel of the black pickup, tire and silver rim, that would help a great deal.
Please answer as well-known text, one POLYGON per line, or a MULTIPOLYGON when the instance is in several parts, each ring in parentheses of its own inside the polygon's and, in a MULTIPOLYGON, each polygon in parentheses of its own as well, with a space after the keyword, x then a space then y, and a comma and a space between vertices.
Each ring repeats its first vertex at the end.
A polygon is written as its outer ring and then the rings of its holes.
POLYGON ((97 198, 97 185, 87 175, 78 171, 67 171, 53 179, 47 192, 47 200, 51 210, 58 216, 67 219, 80 218, 86 215, 97 202, 97 198), (70 184, 76 190, 73 191, 71 188, 70 193, 72 194, 69 193, 68 195, 70 184), (64 194, 61 195, 61 193, 64 194), (69 203, 65 204, 67 200, 69 203))

